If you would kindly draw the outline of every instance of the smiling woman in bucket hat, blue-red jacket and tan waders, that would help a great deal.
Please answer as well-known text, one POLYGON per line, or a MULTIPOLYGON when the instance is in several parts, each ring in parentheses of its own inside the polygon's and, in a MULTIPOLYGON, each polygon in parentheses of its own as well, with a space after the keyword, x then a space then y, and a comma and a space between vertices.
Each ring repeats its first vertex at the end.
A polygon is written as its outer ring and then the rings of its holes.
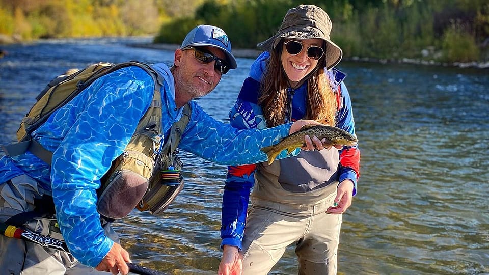
MULTIPOLYGON (((265 51, 243 83, 231 124, 260 128, 308 118, 355 135, 345 74, 333 68, 342 51, 330 32, 321 8, 290 9, 278 33, 258 44, 265 51)), ((342 213, 356 193, 359 162, 357 146, 335 146, 270 166, 229 167, 218 273, 266 274, 295 243, 300 274, 336 274, 342 213)))

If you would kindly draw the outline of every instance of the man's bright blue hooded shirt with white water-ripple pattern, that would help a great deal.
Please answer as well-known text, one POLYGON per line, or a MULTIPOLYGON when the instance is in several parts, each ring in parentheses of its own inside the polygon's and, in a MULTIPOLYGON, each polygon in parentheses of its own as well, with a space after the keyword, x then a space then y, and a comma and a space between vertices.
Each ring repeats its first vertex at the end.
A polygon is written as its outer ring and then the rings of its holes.
MULTIPOLYGON (((167 133, 180 119, 182 108, 175 105, 169 68, 153 67, 165 80, 162 127, 167 133)), ((139 67, 100 77, 33 132, 33 139, 53 152, 52 167, 30 152, 0 159, 0 184, 26 174, 38 180, 46 194, 52 193, 63 237, 83 264, 97 266, 112 248, 113 241, 100 225, 96 189, 112 161, 124 151, 153 93, 152 77, 139 67)), ((238 130, 214 120, 194 101, 191 107, 179 148, 222 164, 266 160, 259 148, 278 143, 290 128, 289 124, 269 131, 238 130)))

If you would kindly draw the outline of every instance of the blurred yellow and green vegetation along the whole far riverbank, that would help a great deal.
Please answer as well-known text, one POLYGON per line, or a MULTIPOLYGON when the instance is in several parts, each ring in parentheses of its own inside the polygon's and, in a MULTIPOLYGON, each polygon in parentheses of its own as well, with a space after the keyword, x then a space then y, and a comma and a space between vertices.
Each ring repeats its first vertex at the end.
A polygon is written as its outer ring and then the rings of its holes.
POLYGON ((152 35, 180 44, 205 23, 233 48, 256 48, 298 4, 330 15, 345 58, 489 61, 489 0, 0 0, 0 41, 152 35))

